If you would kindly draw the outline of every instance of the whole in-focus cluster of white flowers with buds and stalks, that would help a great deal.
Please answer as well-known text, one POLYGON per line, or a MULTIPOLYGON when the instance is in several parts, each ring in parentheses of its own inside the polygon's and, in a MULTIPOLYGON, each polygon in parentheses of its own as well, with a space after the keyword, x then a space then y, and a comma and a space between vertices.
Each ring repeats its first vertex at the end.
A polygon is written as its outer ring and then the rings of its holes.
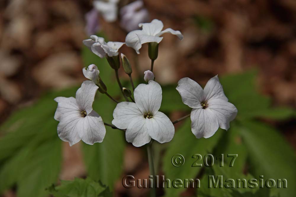
MULTIPOLYGON (((163 39, 163 33, 169 32, 177 35, 180 40, 183 35, 180 31, 168 28, 163 30, 163 23, 154 19, 151 23, 140 23, 142 30, 135 30, 126 36, 126 42, 108 42, 104 38, 91 36, 83 43, 100 58, 106 57, 116 77, 125 102, 118 102, 107 93, 107 87, 102 82, 97 66, 94 64, 83 68, 83 74, 90 81, 84 81, 76 92, 76 98, 57 97, 58 107, 54 118, 59 121, 57 131, 60 139, 68 141, 70 146, 82 140, 87 144, 102 142, 106 133, 105 125, 125 131, 126 140, 134 146, 143 146, 154 139, 160 143, 171 141, 175 128, 174 123, 183 120, 189 115, 170 121, 168 116, 158 111, 162 101, 162 89, 155 82, 155 77, 150 70, 144 72, 144 80, 148 84, 139 84, 136 88, 131 79, 131 65, 125 55, 121 54, 122 65, 126 74, 130 76, 133 87, 131 90, 122 87, 118 78, 120 58, 118 50, 123 44, 134 48, 139 53, 142 44, 149 43, 148 54, 152 61, 158 55, 158 43, 163 39), (92 109, 94 96, 97 90, 106 94, 117 106, 113 111, 112 124, 104 123, 102 118, 92 109), (128 100, 130 99, 130 100, 128 100)), ((228 129, 229 122, 237 115, 236 107, 228 102, 218 76, 211 78, 204 89, 190 78, 183 78, 176 87, 184 104, 192 108, 191 129, 197 138, 213 136, 218 128, 228 129)), ((165 101, 164 101, 165 102, 165 101)))

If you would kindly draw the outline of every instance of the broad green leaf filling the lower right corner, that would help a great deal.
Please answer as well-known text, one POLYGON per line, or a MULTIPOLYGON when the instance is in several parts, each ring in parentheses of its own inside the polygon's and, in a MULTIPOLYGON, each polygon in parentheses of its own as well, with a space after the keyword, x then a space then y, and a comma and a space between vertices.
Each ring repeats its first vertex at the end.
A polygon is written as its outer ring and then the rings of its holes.
POLYGON ((295 152, 280 133, 266 124, 251 121, 242 122, 239 131, 247 146, 252 175, 257 179, 263 175, 264 181, 286 179, 288 188, 275 191, 281 196, 296 196, 296 190, 289 187, 296 185, 295 152))

